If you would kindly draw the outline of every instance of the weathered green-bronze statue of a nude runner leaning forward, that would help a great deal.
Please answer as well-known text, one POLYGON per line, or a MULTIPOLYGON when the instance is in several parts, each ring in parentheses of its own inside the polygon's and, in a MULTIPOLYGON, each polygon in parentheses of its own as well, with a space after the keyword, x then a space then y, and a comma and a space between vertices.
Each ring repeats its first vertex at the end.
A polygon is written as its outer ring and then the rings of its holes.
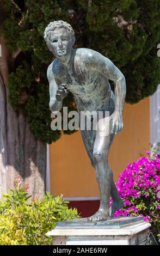
POLYGON ((108 153, 114 135, 123 129, 126 82, 121 71, 99 52, 88 48, 73 48, 74 34, 71 25, 61 20, 50 22, 44 32, 46 44, 56 57, 47 70, 50 109, 60 111, 63 99, 70 91, 75 96, 78 113, 109 111, 108 136, 100 136, 99 129, 81 130, 91 164, 96 169, 100 190, 100 208, 88 221, 106 221, 123 206, 108 164, 108 153), (114 81, 114 93, 108 79, 114 81), (110 196, 113 199, 111 209, 110 196))

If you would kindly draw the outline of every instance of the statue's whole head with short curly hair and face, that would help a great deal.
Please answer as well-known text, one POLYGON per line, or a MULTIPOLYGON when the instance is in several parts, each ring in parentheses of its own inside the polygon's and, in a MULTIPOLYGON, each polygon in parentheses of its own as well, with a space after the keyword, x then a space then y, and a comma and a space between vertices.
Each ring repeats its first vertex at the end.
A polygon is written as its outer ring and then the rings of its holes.
POLYGON ((75 44, 75 32, 69 23, 62 20, 53 21, 46 27, 44 39, 54 56, 63 57, 75 44))

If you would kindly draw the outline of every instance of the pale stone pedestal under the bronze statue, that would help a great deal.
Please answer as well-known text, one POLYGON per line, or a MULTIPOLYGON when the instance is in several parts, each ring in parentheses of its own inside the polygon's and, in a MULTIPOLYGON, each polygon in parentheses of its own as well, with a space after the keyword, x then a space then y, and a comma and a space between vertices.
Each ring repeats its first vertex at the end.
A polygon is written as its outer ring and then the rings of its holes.
POLYGON ((58 222, 46 235, 53 245, 145 245, 150 224, 143 217, 112 217, 88 222, 87 218, 58 222))

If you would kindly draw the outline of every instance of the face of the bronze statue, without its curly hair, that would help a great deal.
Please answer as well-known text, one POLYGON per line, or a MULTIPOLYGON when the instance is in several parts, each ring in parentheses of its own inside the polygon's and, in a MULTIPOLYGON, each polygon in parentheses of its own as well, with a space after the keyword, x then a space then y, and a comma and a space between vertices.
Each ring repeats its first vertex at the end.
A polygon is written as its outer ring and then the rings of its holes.
POLYGON ((50 32, 50 47, 56 57, 66 56, 71 51, 72 41, 65 28, 57 28, 50 32))

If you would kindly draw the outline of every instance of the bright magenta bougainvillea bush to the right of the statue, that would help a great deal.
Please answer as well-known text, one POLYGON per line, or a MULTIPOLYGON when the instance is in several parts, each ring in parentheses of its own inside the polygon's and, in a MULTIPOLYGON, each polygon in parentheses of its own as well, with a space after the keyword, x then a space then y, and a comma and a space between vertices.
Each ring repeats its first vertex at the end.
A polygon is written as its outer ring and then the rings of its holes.
MULTIPOLYGON (((149 155, 148 151, 147 155, 149 155)), ((156 204, 155 208, 160 209, 158 205, 159 173, 160 155, 154 155, 152 159, 141 157, 137 162, 129 163, 116 184, 120 197, 124 200, 124 208, 116 211, 114 216, 143 215, 144 220, 149 221, 148 208, 152 209, 151 206, 156 204)))

